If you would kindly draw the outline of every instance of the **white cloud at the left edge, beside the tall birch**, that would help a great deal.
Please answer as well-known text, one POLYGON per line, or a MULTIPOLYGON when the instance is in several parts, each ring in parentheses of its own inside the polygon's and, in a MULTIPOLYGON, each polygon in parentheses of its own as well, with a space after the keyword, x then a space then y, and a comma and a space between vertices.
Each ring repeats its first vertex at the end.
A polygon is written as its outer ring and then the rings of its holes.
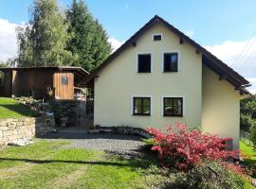
POLYGON ((0 18, 0 60, 6 61, 17 54, 16 26, 0 18))

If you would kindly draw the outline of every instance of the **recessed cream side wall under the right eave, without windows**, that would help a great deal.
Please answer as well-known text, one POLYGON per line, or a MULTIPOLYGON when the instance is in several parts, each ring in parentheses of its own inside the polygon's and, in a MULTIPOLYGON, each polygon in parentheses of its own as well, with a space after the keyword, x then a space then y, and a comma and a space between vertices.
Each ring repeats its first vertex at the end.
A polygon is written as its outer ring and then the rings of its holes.
POLYGON ((239 148, 240 94, 225 79, 219 80, 210 68, 203 66, 203 131, 233 139, 239 148))

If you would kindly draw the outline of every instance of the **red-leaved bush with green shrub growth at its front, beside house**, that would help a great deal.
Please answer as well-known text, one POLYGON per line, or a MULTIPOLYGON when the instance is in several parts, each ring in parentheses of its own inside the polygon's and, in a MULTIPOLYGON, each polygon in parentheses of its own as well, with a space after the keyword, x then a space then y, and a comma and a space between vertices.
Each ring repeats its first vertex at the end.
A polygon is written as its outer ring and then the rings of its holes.
POLYGON ((179 171, 174 180, 165 181, 166 188, 250 188, 246 167, 233 163, 241 152, 226 150, 229 138, 190 130, 179 123, 167 133, 153 128, 148 131, 155 136, 152 150, 157 151, 160 163, 179 171))

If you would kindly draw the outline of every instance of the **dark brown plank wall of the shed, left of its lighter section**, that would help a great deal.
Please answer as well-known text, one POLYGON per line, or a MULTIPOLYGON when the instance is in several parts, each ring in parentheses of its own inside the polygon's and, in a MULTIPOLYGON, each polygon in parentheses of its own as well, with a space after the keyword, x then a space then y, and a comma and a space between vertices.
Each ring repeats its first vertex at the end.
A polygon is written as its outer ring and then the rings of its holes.
POLYGON ((13 71, 12 94, 15 96, 34 94, 36 98, 46 97, 47 86, 53 88, 53 73, 53 70, 48 69, 13 71))

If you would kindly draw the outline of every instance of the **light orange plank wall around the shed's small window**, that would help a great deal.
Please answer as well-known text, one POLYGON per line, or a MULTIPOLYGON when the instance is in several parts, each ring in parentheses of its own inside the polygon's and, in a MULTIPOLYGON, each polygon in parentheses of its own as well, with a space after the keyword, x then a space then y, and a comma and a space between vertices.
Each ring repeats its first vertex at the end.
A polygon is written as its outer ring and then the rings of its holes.
POLYGON ((53 86, 55 98, 73 99, 74 98, 74 74, 73 73, 54 73, 53 86), (67 77, 67 84, 62 84, 62 77, 67 77))

